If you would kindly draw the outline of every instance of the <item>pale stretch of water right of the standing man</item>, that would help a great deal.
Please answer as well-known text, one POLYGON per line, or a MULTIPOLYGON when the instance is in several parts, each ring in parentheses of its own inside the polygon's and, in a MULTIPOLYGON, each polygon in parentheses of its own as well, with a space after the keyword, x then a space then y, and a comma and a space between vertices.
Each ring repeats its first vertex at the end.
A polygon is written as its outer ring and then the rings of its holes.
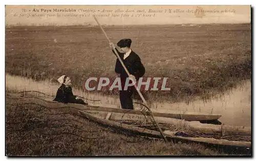
POLYGON ((251 126, 251 82, 246 81, 243 86, 232 89, 221 98, 212 99, 206 103, 202 100, 196 100, 189 105, 183 102, 161 103, 157 105, 157 109, 220 114, 222 117, 219 121, 224 124, 251 126))

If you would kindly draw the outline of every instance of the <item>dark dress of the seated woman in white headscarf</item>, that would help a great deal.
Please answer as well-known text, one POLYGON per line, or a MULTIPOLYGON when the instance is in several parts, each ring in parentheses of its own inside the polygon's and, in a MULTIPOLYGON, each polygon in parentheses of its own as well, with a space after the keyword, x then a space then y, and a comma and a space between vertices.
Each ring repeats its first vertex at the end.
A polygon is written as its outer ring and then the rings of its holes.
POLYGON ((76 99, 76 96, 73 95, 72 88, 61 85, 57 91, 54 101, 62 103, 77 103, 77 104, 88 104, 81 99, 76 99))

